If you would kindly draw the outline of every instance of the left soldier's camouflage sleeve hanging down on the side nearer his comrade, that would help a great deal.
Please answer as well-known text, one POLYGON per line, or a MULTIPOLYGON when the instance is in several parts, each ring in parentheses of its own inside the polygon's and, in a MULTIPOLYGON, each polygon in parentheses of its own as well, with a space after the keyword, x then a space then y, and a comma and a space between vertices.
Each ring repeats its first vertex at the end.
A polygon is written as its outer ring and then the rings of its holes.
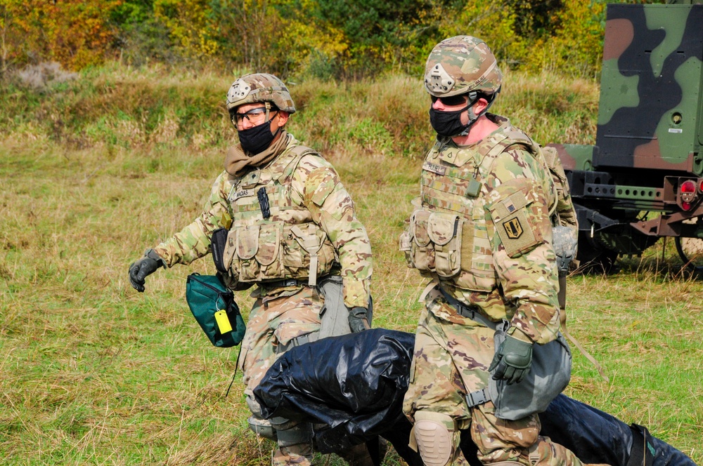
POLYGON ((311 212, 313 221, 335 246, 342 266, 344 304, 368 308, 372 272, 370 241, 337 171, 322 157, 305 156, 293 175, 292 187, 311 212))

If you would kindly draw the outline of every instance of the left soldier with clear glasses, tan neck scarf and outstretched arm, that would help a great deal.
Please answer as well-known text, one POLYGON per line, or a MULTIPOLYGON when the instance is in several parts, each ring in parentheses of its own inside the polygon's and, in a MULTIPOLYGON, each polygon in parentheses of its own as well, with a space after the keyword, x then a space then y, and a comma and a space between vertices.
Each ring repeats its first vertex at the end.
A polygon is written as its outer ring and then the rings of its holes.
POLYGON ((280 79, 243 76, 229 89, 227 108, 240 143, 229 149, 202 214, 147 250, 129 277, 143 291, 148 274, 207 255, 212 233, 229 230, 228 286, 253 285, 257 298, 240 357, 250 425, 278 440, 274 466, 310 465, 311 426, 282 418, 268 425, 252 390, 278 355, 316 338, 324 303, 316 286, 326 277, 341 276, 351 330, 368 328, 370 243, 335 168, 285 131, 295 106, 280 79))

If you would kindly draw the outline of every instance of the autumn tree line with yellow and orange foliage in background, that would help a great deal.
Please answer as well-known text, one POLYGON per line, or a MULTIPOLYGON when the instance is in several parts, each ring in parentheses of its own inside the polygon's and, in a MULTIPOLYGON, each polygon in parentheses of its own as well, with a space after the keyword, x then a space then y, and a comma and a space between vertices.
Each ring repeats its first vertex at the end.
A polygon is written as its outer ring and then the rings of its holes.
POLYGON ((503 66, 593 77, 606 1, 0 0, 0 73, 119 59, 285 78, 417 75, 439 40, 471 34, 503 66))

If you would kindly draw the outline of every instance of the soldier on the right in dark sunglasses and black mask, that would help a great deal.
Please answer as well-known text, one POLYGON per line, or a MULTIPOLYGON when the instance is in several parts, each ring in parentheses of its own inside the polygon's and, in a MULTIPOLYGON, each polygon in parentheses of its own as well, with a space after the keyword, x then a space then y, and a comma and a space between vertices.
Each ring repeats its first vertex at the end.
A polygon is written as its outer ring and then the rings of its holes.
POLYGON ((560 324, 555 189, 529 136, 486 113, 501 80, 496 58, 472 36, 441 41, 427 59, 437 142, 401 250, 432 283, 421 298, 404 412, 427 466, 467 464, 460 430, 470 430, 486 465, 579 466, 571 451, 539 437, 536 414, 499 419, 487 394, 491 375, 520 382, 533 345, 555 340, 560 324), (491 326, 501 319, 510 329, 496 349, 491 326))

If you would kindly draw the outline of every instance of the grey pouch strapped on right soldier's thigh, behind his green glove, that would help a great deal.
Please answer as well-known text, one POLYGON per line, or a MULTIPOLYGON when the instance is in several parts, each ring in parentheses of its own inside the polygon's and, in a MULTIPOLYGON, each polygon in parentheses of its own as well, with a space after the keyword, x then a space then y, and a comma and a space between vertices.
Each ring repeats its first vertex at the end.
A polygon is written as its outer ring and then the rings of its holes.
MULTIPOLYGON (((496 351, 507 338, 508 328, 510 323, 505 320, 496 328, 496 351)), ((571 368, 571 350, 561 333, 546 345, 533 345, 532 365, 524 379, 512 385, 505 380, 489 379, 489 394, 496 406, 496 417, 517 420, 545 411, 569 385, 571 368)))

